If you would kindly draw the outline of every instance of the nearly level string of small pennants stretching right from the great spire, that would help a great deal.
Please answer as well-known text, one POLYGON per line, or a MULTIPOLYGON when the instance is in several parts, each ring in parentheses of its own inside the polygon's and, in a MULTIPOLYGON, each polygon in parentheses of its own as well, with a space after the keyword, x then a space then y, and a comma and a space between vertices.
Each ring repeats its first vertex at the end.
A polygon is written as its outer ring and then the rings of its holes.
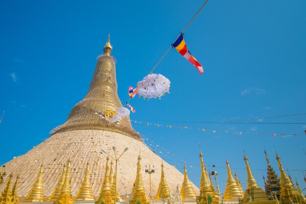
POLYGON ((188 127, 188 126, 177 126, 177 125, 163 125, 163 124, 158 124, 158 123, 152 123, 152 122, 142 122, 142 121, 134 121, 131 120, 131 122, 134 123, 138 123, 138 124, 144 124, 147 126, 155 126, 155 127, 160 127, 160 128, 179 128, 179 129, 197 129, 200 130, 202 132, 212 132, 212 133, 221 133, 221 132, 226 132, 226 133, 234 133, 234 134, 238 134, 238 135, 242 135, 245 133, 253 133, 253 134, 262 134, 262 135, 271 135, 272 137, 276 137, 277 135, 280 135, 282 137, 289 137, 289 136, 297 136, 298 134, 293 133, 293 134, 285 134, 285 133, 267 133, 267 132, 263 132, 263 133, 259 133, 259 132, 255 132, 255 131, 236 131, 236 130, 214 130, 214 129, 204 129, 204 128, 200 128, 200 127, 188 127))

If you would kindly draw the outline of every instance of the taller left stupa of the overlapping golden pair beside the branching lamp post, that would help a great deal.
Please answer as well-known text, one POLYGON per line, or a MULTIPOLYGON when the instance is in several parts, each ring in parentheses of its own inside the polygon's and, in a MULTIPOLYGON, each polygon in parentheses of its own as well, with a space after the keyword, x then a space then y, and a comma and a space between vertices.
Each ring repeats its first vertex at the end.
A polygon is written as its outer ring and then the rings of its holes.
POLYGON ((95 204, 110 204, 111 199, 111 186, 109 184, 109 157, 106 158, 105 176, 102 184, 101 192, 98 201, 95 204))

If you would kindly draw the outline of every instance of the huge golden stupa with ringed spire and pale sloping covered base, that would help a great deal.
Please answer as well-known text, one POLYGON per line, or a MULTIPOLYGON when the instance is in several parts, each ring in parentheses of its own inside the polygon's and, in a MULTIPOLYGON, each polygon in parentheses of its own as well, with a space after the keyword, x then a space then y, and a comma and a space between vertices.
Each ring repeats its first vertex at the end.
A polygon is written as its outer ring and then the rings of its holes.
MULTIPOLYGON (((58 186, 65 184, 66 180, 69 182, 63 176, 66 172, 64 165, 68 158, 71 158, 69 159, 69 177, 72 196, 83 195, 81 192, 78 193, 80 187, 83 186, 81 189, 85 190, 90 189, 91 182, 93 196, 99 197, 106 174, 108 156, 102 153, 101 149, 113 156, 113 146, 116 147, 117 154, 121 154, 126 147, 129 148, 118 162, 118 194, 131 193, 136 178, 139 153, 143 167, 152 162, 156 165, 155 174, 151 175, 152 195, 156 194, 161 178, 162 171, 159 166, 162 159, 143 143, 139 134, 132 129, 130 118, 125 118, 120 124, 117 124, 102 120, 95 115, 95 112, 101 111, 101 115, 111 117, 117 108, 122 107, 117 94, 116 67, 114 58, 110 55, 111 52, 112 46, 108 40, 104 46, 104 54, 99 58, 95 67, 86 96, 72 108, 66 122, 54 129, 53 134, 43 143, 26 154, 5 163, 5 170, 8 174, 20 175, 18 185, 20 198, 26 197, 25 201, 35 202, 33 200, 35 196, 29 194, 31 191, 33 195, 35 193, 39 193, 40 197, 43 195, 45 201, 52 201, 52 193, 58 195, 61 191, 58 186), (89 180, 88 174, 90 175, 89 180), (86 180, 87 183, 82 184, 83 180, 86 180), (41 186, 43 189, 40 189, 41 186)), ((183 183, 184 175, 175 166, 165 161, 163 161, 163 170, 170 191, 175 192, 177 184, 183 183)), ((149 194, 149 174, 143 172, 142 177, 146 194, 149 194)), ((4 183, 0 185, 1 191, 8 180, 7 176, 4 183)), ((194 184, 192 186, 199 194, 197 186, 194 184)), ((89 197, 92 198, 92 195, 89 197)))

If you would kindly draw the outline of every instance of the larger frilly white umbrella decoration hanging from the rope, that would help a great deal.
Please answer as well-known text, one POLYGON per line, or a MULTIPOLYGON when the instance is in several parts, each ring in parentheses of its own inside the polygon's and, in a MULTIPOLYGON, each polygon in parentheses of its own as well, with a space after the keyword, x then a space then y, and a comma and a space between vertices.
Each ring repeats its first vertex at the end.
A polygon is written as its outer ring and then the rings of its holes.
POLYGON ((137 94, 144 98, 157 98, 169 93, 170 81, 161 74, 149 74, 137 83, 137 94))

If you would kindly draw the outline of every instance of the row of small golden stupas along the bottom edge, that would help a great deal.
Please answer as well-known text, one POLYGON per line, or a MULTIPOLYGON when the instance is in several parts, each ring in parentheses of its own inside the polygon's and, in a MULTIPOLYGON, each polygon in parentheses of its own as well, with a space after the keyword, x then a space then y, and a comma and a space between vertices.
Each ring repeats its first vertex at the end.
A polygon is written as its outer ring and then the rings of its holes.
MULTIPOLYGON (((184 181, 180 190, 180 199, 185 202, 197 201, 199 204, 237 204, 237 203, 249 203, 253 204, 279 204, 278 198, 276 196, 268 196, 258 185, 254 179, 253 173, 251 171, 250 165, 248 163, 248 158, 244 154, 244 161, 246 165, 247 172, 247 189, 243 192, 242 185, 235 173, 235 179, 231 172, 228 161, 227 165, 227 184, 224 192, 224 197, 220 198, 220 194, 215 190, 214 184, 211 179, 211 174, 207 172, 207 168, 203 162, 203 154, 200 152, 200 165, 201 165, 201 178, 200 178, 200 195, 197 196, 191 182, 188 179, 188 174, 186 170, 186 165, 184 165, 184 181)), ((299 185, 295 188, 292 184, 290 178, 286 175, 284 168, 281 163, 281 158, 277 154, 276 159, 279 164, 281 176, 281 190, 280 198, 282 204, 306 204, 305 197, 303 196, 299 185)), ((90 174, 89 174, 89 163, 87 163, 87 169, 85 173, 84 180, 81 187, 75 197, 72 197, 70 189, 70 158, 64 164, 62 176, 56 185, 52 195, 47 199, 47 202, 53 202, 53 204, 73 204, 75 201, 94 201, 92 194, 90 174)), ((130 204, 149 204, 150 199, 145 193, 144 185, 142 182, 141 175, 141 157, 138 156, 137 163, 137 174, 136 179, 131 192, 130 204)), ((167 184, 164 172, 164 165, 161 164, 161 179, 157 193, 154 200, 171 200, 173 195, 170 194, 170 188, 167 184)), ((16 182, 11 190, 13 179, 13 173, 10 174, 9 180, 6 187, 1 193, 0 204, 20 204, 18 198, 18 180, 17 176, 16 182)), ((217 184, 217 188, 219 186, 217 184)), ((178 192, 177 192, 178 193, 178 192)), ((115 189, 114 182, 114 172, 112 168, 112 162, 110 163, 109 170, 109 158, 106 162, 106 172, 104 176, 104 182, 100 191, 100 195, 95 204, 113 204, 115 197, 118 196, 117 190, 115 189)), ((118 201, 118 199, 116 199, 118 201)), ((178 199, 179 200, 179 199, 178 199)), ((180 200, 180 202, 181 202, 180 200)), ((36 182, 31 188, 29 194, 23 200, 24 203, 36 203, 44 202, 43 195, 43 164, 41 164, 39 174, 36 182)), ((176 203, 176 202, 173 202, 176 203)))

